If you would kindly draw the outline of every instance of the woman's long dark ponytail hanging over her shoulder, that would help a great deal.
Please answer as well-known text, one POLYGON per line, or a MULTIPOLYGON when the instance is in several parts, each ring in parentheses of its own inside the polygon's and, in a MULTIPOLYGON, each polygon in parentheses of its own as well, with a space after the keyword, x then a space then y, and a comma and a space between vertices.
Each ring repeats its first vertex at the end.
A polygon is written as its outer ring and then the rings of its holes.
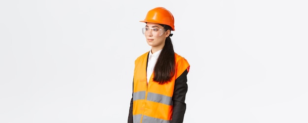
MULTIPOLYGON (((170 30, 171 27, 168 25, 161 25, 164 29, 170 30)), ((154 67, 154 81, 159 84, 164 84, 171 80, 175 75, 175 55, 173 50, 172 41, 169 35, 165 40, 165 45, 162 48, 160 55, 154 67)))

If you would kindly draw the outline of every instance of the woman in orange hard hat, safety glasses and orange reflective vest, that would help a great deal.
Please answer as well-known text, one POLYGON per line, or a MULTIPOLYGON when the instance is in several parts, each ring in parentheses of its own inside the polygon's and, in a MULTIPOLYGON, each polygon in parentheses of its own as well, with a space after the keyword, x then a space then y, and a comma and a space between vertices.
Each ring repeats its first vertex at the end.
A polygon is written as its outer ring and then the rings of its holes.
POLYGON ((190 65, 173 50, 173 15, 156 7, 140 22, 151 50, 135 60, 128 123, 183 123, 190 65))

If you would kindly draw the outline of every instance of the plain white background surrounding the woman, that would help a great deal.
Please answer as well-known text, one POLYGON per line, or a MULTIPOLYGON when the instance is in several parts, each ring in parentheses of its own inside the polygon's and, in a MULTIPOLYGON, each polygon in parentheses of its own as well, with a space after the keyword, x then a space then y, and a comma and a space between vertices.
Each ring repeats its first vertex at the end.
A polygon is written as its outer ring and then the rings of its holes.
POLYGON ((127 123, 157 6, 191 65, 184 123, 308 123, 306 0, 0 0, 0 123, 127 123))

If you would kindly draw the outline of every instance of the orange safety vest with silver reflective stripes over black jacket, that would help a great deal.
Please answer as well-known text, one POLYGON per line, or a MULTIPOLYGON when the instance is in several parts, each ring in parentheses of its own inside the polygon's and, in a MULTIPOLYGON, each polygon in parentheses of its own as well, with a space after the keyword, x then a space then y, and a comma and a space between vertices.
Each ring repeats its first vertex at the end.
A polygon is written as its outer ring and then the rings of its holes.
POLYGON ((188 62, 175 53, 176 71, 170 82, 158 84, 153 81, 154 73, 147 84, 147 62, 149 52, 135 60, 133 83, 133 122, 170 123, 172 120, 175 80, 189 71, 188 62))

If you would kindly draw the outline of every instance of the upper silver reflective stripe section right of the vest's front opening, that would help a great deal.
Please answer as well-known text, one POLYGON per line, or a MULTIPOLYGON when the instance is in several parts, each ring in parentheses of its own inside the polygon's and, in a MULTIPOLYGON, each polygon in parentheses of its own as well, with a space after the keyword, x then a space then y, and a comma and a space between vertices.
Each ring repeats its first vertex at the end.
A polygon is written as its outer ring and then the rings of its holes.
POLYGON ((153 92, 148 92, 147 100, 163 103, 163 104, 166 104, 166 105, 173 105, 172 97, 162 95, 162 94, 153 93, 153 92))

